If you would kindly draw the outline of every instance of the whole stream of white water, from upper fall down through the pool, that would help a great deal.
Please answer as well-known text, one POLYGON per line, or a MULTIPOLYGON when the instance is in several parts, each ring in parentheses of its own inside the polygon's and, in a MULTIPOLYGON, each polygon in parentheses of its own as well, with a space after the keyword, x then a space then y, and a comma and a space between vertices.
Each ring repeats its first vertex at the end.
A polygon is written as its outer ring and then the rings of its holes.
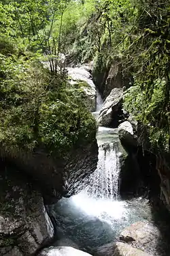
MULTIPOLYGON (((96 118, 102 104, 103 100, 97 92, 97 109, 92 113, 96 118)), ((90 175, 88 186, 78 195, 61 199, 53 209, 58 240, 61 240, 59 245, 66 240, 65 245, 73 244, 91 254, 97 247, 116 240, 120 231, 131 223, 151 221, 147 199, 120 199, 118 129, 99 127, 97 143, 97 169, 90 175)))

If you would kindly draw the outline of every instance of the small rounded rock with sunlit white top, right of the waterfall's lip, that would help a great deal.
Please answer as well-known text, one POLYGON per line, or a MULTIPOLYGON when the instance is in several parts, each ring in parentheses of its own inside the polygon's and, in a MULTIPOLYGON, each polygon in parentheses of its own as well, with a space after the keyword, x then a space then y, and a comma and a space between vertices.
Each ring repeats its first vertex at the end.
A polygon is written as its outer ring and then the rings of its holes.
POLYGON ((130 122, 125 121, 122 124, 118 126, 118 134, 120 141, 127 145, 132 147, 137 147, 137 139, 135 139, 135 136, 133 134, 133 126, 130 122))

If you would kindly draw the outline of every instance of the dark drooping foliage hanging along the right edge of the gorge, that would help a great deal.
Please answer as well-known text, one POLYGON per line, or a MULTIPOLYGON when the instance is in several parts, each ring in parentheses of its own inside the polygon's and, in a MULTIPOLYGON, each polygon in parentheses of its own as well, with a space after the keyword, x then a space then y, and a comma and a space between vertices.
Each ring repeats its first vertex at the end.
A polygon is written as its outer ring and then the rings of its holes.
POLYGON ((139 18, 124 51, 133 66, 135 86, 126 92, 124 107, 147 127, 152 150, 169 152, 170 14, 169 5, 162 4, 138 3, 139 18))

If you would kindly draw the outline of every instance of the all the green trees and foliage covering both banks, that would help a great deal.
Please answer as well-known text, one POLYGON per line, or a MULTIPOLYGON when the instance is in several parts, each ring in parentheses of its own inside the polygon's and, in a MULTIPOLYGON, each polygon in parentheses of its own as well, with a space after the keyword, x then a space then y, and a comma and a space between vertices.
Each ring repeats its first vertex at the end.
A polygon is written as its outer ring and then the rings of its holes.
POLYGON ((90 137, 95 122, 67 84, 64 53, 72 64, 94 59, 98 76, 120 63, 141 143, 169 152, 169 1, 3 0, 0 10, 1 142, 58 147, 90 137))

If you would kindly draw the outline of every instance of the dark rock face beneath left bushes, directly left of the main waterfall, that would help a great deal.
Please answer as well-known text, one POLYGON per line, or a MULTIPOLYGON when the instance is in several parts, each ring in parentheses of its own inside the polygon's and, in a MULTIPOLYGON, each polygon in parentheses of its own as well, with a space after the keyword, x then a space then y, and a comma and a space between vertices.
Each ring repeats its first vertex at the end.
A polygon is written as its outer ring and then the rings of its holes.
POLYGON ((17 152, 5 159, 16 165, 22 175, 29 175, 37 182, 45 204, 49 205, 81 189, 81 184, 97 167, 98 146, 94 140, 88 145, 79 145, 62 157, 52 158, 37 149, 33 154, 17 152))

